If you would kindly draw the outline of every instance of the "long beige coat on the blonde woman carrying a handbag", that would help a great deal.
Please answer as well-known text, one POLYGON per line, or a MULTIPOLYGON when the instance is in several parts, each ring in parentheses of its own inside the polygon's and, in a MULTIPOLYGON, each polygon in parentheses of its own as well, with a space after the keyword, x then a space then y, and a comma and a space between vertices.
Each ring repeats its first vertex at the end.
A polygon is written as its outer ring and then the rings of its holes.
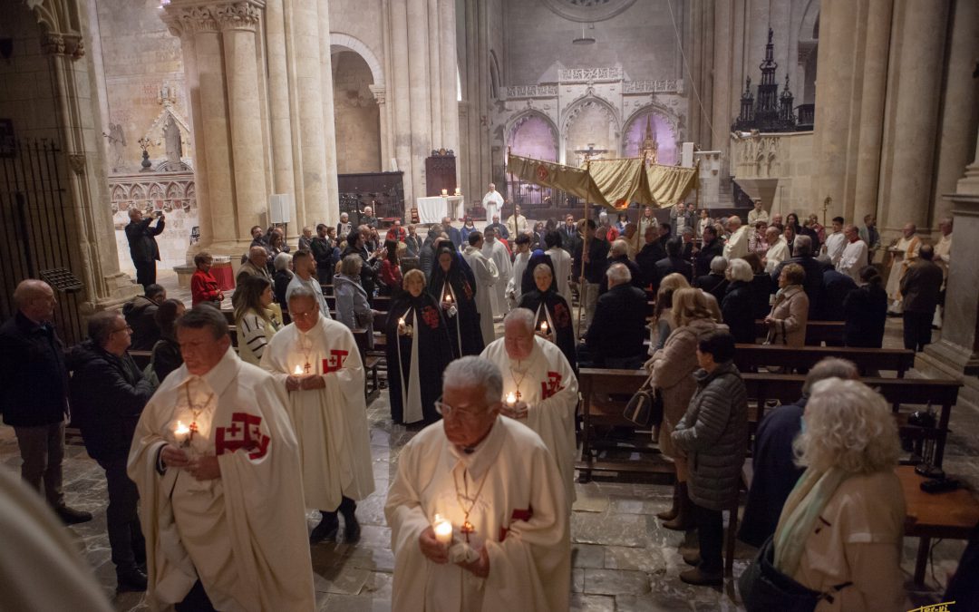
POLYGON ((667 344, 653 353, 649 360, 653 384, 663 394, 663 425, 660 427, 659 444, 660 450, 667 456, 677 456, 670 435, 676 423, 683 418, 690 398, 697 390, 697 383, 693 379, 693 372, 699 367, 697 338, 715 329, 726 330, 727 326, 709 319, 694 319, 677 327, 667 339, 667 344))

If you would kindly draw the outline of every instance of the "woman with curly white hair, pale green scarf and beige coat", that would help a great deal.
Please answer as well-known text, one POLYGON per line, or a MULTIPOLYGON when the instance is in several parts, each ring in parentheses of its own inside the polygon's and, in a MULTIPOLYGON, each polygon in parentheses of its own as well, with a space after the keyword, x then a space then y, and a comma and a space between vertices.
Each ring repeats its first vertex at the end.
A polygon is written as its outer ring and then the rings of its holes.
POLYGON ((794 447, 806 471, 778 519, 775 567, 830 595, 817 612, 904 609, 905 497, 887 402, 858 381, 820 381, 794 447))

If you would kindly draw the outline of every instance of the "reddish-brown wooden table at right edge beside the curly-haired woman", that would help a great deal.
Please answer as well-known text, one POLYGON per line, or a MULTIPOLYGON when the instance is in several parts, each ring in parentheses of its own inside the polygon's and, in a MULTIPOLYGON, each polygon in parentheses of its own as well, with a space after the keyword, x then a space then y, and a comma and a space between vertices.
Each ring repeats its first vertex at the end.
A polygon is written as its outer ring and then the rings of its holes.
POLYGON ((921 483, 925 479, 915 474, 912 466, 902 465, 896 471, 908 506, 905 536, 921 539, 914 562, 914 583, 923 585, 931 539, 967 540, 976 524, 979 524, 979 501, 964 489, 940 494, 925 493, 921 491, 921 483))

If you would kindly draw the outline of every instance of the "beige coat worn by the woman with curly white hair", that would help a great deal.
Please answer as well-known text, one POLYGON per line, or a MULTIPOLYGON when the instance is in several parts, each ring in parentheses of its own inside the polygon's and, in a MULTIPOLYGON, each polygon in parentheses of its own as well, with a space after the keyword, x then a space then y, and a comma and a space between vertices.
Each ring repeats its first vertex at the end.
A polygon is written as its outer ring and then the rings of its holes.
POLYGON ((853 582, 816 612, 904 610, 901 545, 905 494, 894 472, 853 476, 840 485, 806 540, 795 578, 826 591, 853 582))

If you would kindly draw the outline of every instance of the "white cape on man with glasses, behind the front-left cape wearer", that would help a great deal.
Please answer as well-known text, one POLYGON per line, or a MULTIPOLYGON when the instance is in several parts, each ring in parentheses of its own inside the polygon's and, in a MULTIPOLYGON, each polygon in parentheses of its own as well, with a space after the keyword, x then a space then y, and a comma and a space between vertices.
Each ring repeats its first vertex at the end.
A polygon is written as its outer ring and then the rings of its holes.
POLYGON ((374 492, 364 370, 343 323, 320 317, 307 334, 293 323, 275 334, 261 355, 262 368, 283 393, 286 378, 297 365, 303 369, 306 351, 311 374, 322 376, 326 387, 288 392, 286 409, 300 442, 305 505, 335 510, 343 495, 359 500, 374 492))

